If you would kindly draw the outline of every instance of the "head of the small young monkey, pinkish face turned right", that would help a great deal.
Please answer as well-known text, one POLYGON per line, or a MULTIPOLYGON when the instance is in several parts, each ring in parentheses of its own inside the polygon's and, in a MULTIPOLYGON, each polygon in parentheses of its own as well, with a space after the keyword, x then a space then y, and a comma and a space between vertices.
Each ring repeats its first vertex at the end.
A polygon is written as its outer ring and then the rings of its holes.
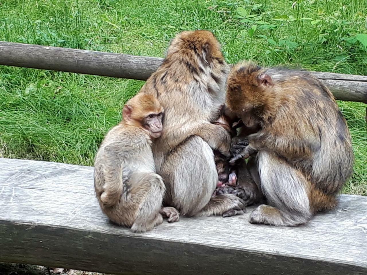
POLYGON ((143 92, 128 100, 122 111, 125 125, 141 127, 152 139, 160 137, 163 131, 163 114, 155 96, 143 92))

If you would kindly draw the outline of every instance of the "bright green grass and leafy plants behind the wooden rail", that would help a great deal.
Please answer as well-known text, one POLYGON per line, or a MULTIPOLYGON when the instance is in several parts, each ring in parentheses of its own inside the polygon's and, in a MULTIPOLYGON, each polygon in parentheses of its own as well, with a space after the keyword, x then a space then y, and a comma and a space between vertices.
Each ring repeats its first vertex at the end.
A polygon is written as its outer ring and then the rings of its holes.
MULTIPOLYGON (((0 2, 0 40, 164 56, 181 30, 208 29, 225 58, 367 75, 363 0, 0 2)), ((143 81, 0 66, 0 156, 92 165, 143 81)), ((344 192, 367 195, 366 104, 338 102, 353 137, 344 192)))

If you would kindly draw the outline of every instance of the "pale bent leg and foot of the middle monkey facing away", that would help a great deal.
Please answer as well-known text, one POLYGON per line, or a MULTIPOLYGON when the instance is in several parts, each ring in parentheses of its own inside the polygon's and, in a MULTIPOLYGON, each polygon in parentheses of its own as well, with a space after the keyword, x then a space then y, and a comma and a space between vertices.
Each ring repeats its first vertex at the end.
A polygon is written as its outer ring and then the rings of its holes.
POLYGON ((235 195, 211 201, 218 173, 213 150, 199 136, 189 137, 167 155, 159 173, 167 188, 165 204, 174 206, 183 216, 210 216, 244 207, 235 195))

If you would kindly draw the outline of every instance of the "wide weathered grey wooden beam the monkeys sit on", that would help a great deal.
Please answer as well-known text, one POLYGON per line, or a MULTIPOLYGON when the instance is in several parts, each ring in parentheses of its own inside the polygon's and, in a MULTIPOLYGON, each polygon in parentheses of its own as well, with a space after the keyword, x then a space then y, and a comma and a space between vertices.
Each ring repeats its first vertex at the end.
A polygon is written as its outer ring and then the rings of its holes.
POLYGON ((110 224, 92 167, 0 158, 0 261, 116 274, 367 274, 367 198, 342 195, 307 225, 248 215, 164 221, 134 234, 110 224))

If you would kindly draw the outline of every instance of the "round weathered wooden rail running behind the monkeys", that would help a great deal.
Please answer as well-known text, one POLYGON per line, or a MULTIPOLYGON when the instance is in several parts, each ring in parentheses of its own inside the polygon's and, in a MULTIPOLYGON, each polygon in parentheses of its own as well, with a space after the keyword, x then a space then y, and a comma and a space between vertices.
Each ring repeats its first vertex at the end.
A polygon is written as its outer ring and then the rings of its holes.
MULTIPOLYGON (((0 65, 146 80, 162 58, 0 41, 0 65)), ((313 72, 339 100, 367 103, 367 76, 313 72)))

